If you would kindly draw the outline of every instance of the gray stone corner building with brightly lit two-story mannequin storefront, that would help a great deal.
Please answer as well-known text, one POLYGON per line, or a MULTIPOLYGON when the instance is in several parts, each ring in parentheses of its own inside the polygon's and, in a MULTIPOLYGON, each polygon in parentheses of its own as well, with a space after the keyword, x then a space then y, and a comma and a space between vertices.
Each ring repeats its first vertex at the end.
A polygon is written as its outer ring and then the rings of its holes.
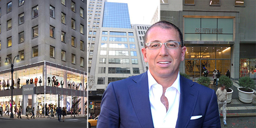
MULTIPOLYGON (((86 0, 0 0, 0 106, 86 109, 86 0), (48 79, 49 78, 49 79, 48 79), (49 81, 48 81, 49 80, 49 81), (28 81, 28 83, 26 82, 28 81), (70 84, 70 86, 69 86, 70 84)), ((14 109, 13 109, 14 110, 14 109)))

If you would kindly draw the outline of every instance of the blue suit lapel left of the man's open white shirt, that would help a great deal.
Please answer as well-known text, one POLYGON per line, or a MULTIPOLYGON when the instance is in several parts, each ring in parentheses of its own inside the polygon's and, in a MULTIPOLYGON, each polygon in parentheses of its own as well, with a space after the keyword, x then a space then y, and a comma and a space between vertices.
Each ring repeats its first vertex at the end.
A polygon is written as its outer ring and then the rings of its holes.
POLYGON ((128 89, 138 120, 142 128, 153 128, 147 72, 133 78, 133 81, 128 89))

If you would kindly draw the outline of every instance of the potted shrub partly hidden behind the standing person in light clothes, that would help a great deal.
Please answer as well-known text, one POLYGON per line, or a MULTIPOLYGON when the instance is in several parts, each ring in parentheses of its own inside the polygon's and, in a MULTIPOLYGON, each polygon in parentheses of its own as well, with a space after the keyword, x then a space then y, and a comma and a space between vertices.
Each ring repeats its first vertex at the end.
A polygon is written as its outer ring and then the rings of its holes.
POLYGON ((231 99, 232 99, 232 93, 233 93, 233 90, 230 87, 233 85, 233 82, 231 81, 231 79, 229 77, 222 75, 219 78, 218 84, 225 85, 227 93, 228 93, 227 103, 230 103, 231 99))

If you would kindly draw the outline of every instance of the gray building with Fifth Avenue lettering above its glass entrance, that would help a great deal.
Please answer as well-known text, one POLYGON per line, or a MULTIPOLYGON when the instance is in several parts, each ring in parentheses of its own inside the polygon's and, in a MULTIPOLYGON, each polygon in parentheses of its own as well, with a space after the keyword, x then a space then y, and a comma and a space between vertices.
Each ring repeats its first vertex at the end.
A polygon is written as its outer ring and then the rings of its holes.
POLYGON ((180 28, 187 47, 180 72, 203 77, 203 67, 231 79, 256 78, 255 0, 160 0, 160 20, 180 28))

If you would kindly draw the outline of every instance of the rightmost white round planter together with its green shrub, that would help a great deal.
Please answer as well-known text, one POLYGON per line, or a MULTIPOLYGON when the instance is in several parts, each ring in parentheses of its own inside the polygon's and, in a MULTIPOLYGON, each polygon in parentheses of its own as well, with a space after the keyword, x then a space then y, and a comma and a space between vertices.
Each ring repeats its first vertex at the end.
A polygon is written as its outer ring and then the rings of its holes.
POLYGON ((245 103, 251 103, 253 97, 253 89, 255 89, 254 80, 250 77, 241 77, 238 82, 238 85, 241 86, 237 88, 239 100, 245 103))

